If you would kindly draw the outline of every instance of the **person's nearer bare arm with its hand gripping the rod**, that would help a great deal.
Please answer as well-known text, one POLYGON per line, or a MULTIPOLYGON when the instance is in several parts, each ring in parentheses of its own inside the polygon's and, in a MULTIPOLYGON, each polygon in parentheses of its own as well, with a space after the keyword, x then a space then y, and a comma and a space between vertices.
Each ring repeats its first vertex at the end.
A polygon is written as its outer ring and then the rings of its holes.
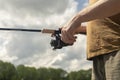
POLYGON ((102 19, 120 12, 120 0, 99 0, 80 11, 62 30, 62 40, 66 43, 75 41, 75 31, 82 22, 102 19))

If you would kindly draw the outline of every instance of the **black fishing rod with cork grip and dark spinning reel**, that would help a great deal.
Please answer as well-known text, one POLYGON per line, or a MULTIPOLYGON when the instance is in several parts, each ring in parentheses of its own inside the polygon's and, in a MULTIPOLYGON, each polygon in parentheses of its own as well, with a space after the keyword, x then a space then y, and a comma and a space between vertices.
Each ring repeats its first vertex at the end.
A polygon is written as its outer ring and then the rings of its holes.
POLYGON ((62 47, 69 46, 70 44, 64 43, 61 40, 61 29, 53 30, 53 29, 18 29, 18 28, 0 28, 0 31, 25 31, 25 32, 41 32, 41 33, 48 33, 52 34, 52 37, 55 37, 55 39, 52 39, 50 44, 53 47, 53 50, 61 49, 62 47))

